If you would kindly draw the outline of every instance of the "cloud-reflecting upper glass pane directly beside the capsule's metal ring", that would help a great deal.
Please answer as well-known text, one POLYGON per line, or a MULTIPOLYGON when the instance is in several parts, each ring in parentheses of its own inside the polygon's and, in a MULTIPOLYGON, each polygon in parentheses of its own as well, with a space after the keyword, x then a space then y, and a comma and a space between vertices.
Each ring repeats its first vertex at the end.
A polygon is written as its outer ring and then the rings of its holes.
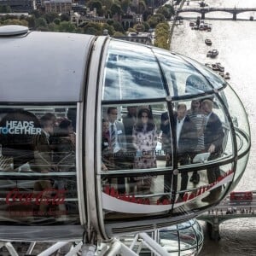
POLYGON ((166 96, 160 67, 151 49, 111 40, 104 71, 103 101, 166 96))

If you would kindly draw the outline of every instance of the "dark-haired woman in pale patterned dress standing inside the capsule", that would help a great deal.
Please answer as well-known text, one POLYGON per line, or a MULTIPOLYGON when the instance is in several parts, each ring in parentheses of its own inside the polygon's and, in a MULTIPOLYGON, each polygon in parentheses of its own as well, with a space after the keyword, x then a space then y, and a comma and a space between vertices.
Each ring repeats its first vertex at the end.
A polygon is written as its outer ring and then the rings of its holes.
MULTIPOLYGON (((142 108, 137 115, 137 124, 132 131, 133 146, 137 153, 134 161, 135 169, 156 167, 155 148, 157 144, 156 125, 148 108, 142 108)), ((137 192, 150 190, 152 177, 137 177, 137 192)))

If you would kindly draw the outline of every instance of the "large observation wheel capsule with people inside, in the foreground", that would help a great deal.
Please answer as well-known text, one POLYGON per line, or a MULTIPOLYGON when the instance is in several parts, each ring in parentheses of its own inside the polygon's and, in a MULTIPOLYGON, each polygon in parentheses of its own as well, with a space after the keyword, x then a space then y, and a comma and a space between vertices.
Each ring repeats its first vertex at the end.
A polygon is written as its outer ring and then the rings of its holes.
POLYGON ((242 103, 196 61, 24 26, 0 27, 0 53, 0 240, 109 239, 181 223, 246 168, 242 103))

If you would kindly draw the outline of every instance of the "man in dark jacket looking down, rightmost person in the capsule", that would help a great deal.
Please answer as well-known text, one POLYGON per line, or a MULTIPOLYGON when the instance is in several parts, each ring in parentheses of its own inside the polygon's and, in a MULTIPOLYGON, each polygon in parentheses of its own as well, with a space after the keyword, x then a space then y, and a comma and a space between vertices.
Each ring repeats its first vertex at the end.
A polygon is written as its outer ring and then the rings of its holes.
MULTIPOLYGON (((222 143, 224 139, 224 131, 220 119, 216 113, 212 112, 213 102, 211 100, 204 100, 201 103, 202 111, 207 115, 207 125, 204 131, 205 149, 211 153, 208 160, 218 159, 222 152, 222 143)), ((214 166, 207 169, 207 177, 209 183, 214 183, 220 177, 219 166, 214 166)), ((221 186, 217 189, 212 189, 210 195, 203 198, 202 201, 214 201, 218 199, 221 192, 221 186)))

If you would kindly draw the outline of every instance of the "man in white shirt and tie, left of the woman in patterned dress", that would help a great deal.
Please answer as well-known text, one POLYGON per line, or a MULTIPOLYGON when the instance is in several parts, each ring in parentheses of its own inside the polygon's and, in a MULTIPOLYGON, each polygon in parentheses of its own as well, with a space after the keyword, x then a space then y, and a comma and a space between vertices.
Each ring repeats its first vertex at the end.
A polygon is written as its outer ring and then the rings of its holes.
MULTIPOLYGON (((118 110, 116 107, 108 108, 109 135, 111 151, 113 154, 113 166, 108 168, 109 171, 122 170, 125 168, 125 128, 122 122, 117 120, 118 110)), ((125 193, 125 177, 118 177, 119 194, 125 193)))

